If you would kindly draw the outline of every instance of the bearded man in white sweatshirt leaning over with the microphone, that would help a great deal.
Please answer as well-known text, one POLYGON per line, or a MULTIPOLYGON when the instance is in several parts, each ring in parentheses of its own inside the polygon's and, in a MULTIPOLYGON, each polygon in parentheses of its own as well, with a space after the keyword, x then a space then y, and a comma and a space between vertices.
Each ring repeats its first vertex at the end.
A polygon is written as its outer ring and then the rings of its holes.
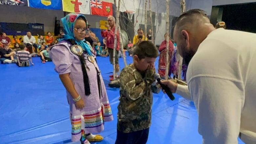
POLYGON ((174 29, 188 65, 187 84, 163 81, 194 101, 204 144, 256 144, 256 34, 215 29, 203 10, 189 10, 174 29))

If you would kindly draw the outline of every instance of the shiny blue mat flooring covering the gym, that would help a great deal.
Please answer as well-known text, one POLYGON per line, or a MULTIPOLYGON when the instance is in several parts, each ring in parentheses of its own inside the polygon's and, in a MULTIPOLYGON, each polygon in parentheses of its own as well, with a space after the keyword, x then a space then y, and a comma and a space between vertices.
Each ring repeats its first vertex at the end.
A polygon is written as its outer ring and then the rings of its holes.
MULTIPOLYGON (((127 54, 126 54, 127 55, 127 54)), ((41 63, 32 58, 34 66, 19 68, 0 64, 0 143, 63 144, 71 142, 71 124, 66 90, 54 71, 52 62, 41 63)), ((132 57, 126 56, 127 64, 132 57)), ((114 144, 117 132, 119 89, 110 88, 109 57, 97 57, 107 89, 114 121, 106 122, 100 133, 104 140, 92 144, 114 144)), ((120 68, 124 67, 119 58, 120 68)), ((158 59, 155 63, 156 69, 158 59)), ((197 112, 194 103, 174 94, 171 101, 160 92, 153 94, 152 125, 147 144, 200 144, 197 112)), ((207 128, 206 128, 207 129, 207 128)), ((239 144, 244 144, 239 139, 239 144)))

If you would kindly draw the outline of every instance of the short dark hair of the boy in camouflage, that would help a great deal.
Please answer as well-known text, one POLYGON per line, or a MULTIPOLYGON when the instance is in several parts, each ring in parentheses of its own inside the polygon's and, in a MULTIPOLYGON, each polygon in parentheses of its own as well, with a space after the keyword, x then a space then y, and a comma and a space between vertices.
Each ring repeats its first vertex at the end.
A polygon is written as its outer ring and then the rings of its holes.
POLYGON ((156 46, 149 41, 140 42, 133 51, 133 55, 137 55, 139 59, 145 57, 158 57, 158 50, 156 46))

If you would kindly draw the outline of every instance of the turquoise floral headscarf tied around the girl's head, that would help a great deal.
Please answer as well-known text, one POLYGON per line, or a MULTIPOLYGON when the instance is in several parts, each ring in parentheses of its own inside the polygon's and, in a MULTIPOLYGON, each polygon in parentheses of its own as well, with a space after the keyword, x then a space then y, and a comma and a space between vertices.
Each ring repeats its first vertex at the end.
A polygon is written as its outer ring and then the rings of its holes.
MULTIPOLYGON (((86 17, 82 14, 77 14, 77 13, 69 13, 68 15, 66 15, 65 17, 63 17, 61 19, 61 22, 63 24, 63 28, 64 28, 64 33, 65 35, 63 36, 63 38, 61 40, 68 40, 68 39, 72 39, 75 41, 75 43, 77 45, 82 46, 82 48, 84 49, 84 51, 87 52, 87 54, 92 55, 91 53, 91 49, 90 46, 88 44, 86 44, 83 40, 79 41, 75 39, 74 36, 74 25, 75 25, 75 21, 77 20, 77 18, 82 17, 86 20, 86 17)), ((86 20, 86 29, 88 30, 88 22, 86 20)))

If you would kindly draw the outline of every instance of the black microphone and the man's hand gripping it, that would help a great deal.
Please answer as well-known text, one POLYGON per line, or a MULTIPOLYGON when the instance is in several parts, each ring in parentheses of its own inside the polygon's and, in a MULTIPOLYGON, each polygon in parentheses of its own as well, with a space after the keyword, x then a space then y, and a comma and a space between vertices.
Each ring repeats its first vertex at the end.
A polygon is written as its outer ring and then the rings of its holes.
POLYGON ((166 93, 171 100, 174 100, 175 97, 173 96, 172 92, 175 93, 177 87, 176 87, 175 91, 171 91, 171 90, 173 90, 172 85, 170 85, 172 83, 168 80, 162 81, 161 78, 160 78, 160 75, 158 73, 154 74, 154 78, 158 81, 158 84, 161 86, 162 91, 164 93, 166 93))

